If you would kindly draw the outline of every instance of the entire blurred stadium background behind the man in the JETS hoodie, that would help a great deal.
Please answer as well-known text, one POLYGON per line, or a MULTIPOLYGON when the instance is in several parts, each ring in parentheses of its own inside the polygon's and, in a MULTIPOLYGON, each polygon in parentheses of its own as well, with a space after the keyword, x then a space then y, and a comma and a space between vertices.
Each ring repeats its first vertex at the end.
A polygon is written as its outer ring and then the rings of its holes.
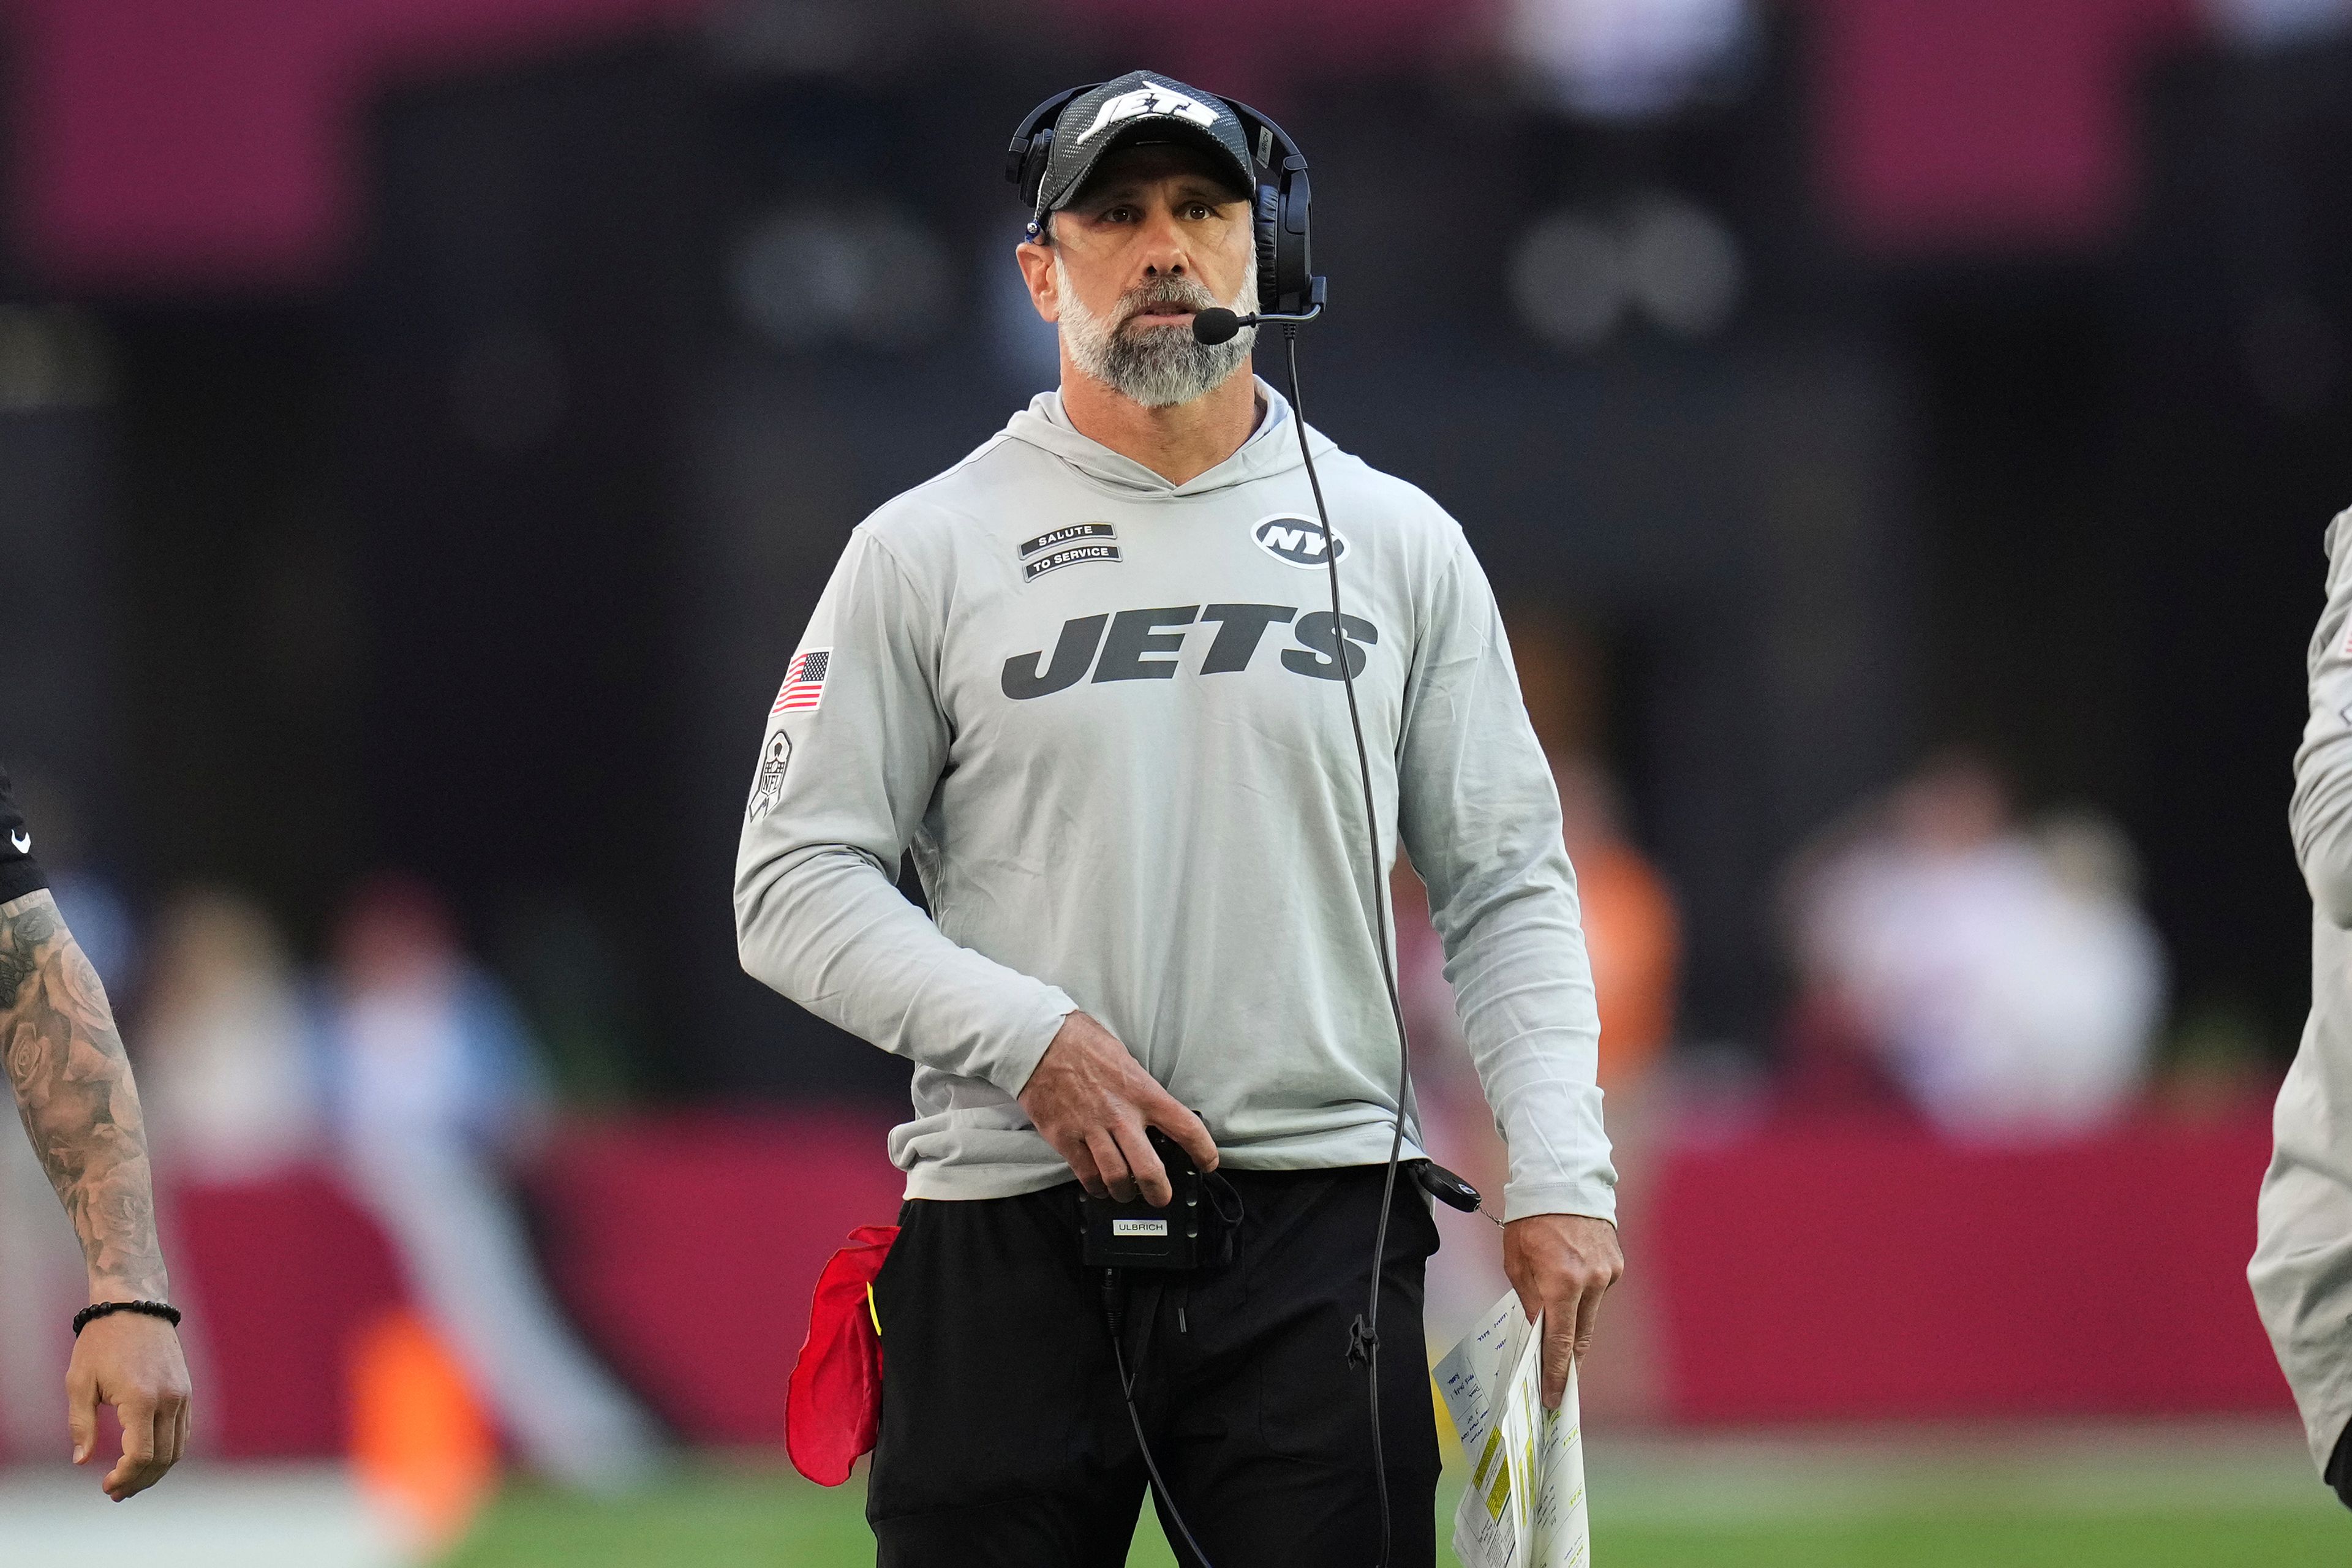
POLYGON ((0 1563, 870 1561, 781 1410, 903 1070, 736 971, 736 806, 849 527, 1054 376, 1009 129, 1136 63, 1303 143, 1315 423, 1512 618, 1625 1150, 1602 1563, 2352 1552, 2241 1276, 2345 0, 5 0, 0 61, 0 759, 202 1401, 129 1509, 54 1469, 0 1138, 0 1563))

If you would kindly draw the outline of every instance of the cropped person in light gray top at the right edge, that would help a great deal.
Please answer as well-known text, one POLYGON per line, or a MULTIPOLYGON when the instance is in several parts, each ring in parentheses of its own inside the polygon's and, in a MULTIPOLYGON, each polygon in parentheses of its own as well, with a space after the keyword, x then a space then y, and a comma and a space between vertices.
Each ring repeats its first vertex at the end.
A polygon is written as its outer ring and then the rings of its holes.
POLYGON ((2352 1507, 2352 512, 2328 524, 2326 548, 2288 811, 2312 891, 2312 1016, 2279 1088, 2246 1274, 2312 1460, 2352 1507))

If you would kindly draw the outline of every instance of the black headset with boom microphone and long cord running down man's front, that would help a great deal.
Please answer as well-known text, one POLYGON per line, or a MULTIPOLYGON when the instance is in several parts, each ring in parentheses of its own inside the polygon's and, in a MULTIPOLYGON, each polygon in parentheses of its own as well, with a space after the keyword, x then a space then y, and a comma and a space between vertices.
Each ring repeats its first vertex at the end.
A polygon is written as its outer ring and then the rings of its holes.
MULTIPOLYGON (((1028 235, 1030 240, 1044 242, 1044 216, 1040 207, 1042 186, 1047 176, 1047 165, 1054 155, 1054 120, 1061 110, 1080 94, 1094 92, 1101 82, 1087 87, 1073 87, 1070 92, 1058 92, 1037 108, 1028 113, 1021 129, 1014 132, 1011 146, 1004 150, 1004 179, 1021 190, 1021 202, 1030 209, 1028 235)), ((1322 480, 1315 475, 1315 454, 1308 449, 1308 414, 1305 402, 1298 390, 1298 322, 1310 322, 1322 315, 1324 308, 1324 280, 1315 275, 1310 261, 1310 200, 1308 188, 1308 160, 1298 150, 1279 125, 1249 108, 1247 103, 1235 103, 1223 99, 1223 103, 1242 120, 1242 132, 1254 153, 1254 176, 1256 190, 1251 193, 1251 214, 1258 244, 1258 310, 1256 315, 1237 317, 1232 310, 1200 310, 1192 317, 1192 336, 1202 343, 1223 343, 1232 339, 1242 327, 1256 327, 1258 322, 1282 322, 1284 353, 1289 360, 1289 383, 1291 383, 1291 423, 1298 428, 1298 456, 1305 463, 1308 484, 1315 491, 1315 515, 1322 520, 1324 538, 1331 534, 1331 512, 1324 505, 1322 480), (1275 155, 1279 153, 1279 162, 1275 155)), ((1338 550, 1324 550, 1324 569, 1331 581, 1331 625, 1345 625, 1341 618, 1338 599, 1338 550)), ((1381 1182, 1381 1220, 1371 1239, 1371 1291, 1364 1302, 1364 1312, 1357 1314, 1355 1324, 1348 1326, 1348 1366, 1364 1366, 1369 1371, 1367 1387, 1371 1396, 1371 1453, 1374 1453, 1374 1486, 1381 1495, 1381 1556, 1378 1568, 1388 1568, 1390 1552, 1390 1509, 1388 1509, 1388 1453, 1381 1446, 1381 1260, 1388 1253, 1388 1213, 1395 1206, 1397 1194, 1397 1168, 1404 1157, 1404 1098, 1411 1084, 1411 1044, 1404 1030, 1404 1001, 1397 994, 1397 969, 1388 952, 1388 879, 1381 875, 1381 818, 1371 792, 1371 757, 1364 748, 1364 717, 1355 696, 1355 668, 1348 658, 1338 661, 1341 684, 1348 691, 1348 729, 1355 733, 1355 766, 1357 780, 1362 785, 1364 799, 1364 844, 1367 844, 1367 875, 1371 907, 1367 910, 1371 919, 1369 936, 1381 957, 1381 980, 1388 987, 1388 1013, 1397 1032, 1397 1103, 1392 1117, 1392 1133, 1388 1140, 1388 1171, 1381 1182)), ((1430 1192, 1430 1197, 1461 1208, 1463 1213, 1479 1208, 1477 1190, 1428 1161, 1421 1161, 1416 1182, 1430 1192)), ((1491 1215, 1489 1215, 1491 1218, 1491 1215)), ((1120 1387, 1127 1396, 1127 1420, 1136 1429, 1136 1446, 1143 1453, 1143 1467, 1152 1476, 1152 1486, 1160 1488, 1160 1497, 1167 1502, 1169 1516, 1176 1521, 1176 1530, 1183 1542, 1192 1549, 1192 1559, 1209 1568, 1209 1556, 1192 1540, 1192 1530, 1185 1526, 1183 1514, 1176 1509, 1176 1497, 1169 1493, 1167 1481, 1160 1476, 1160 1465, 1152 1462, 1150 1443, 1143 1439, 1143 1418, 1136 1413, 1134 1378, 1127 1371, 1124 1352, 1124 1309, 1115 1305, 1115 1269, 1103 1272, 1103 1316, 1110 1326, 1110 1352, 1117 1366, 1120 1387)))

